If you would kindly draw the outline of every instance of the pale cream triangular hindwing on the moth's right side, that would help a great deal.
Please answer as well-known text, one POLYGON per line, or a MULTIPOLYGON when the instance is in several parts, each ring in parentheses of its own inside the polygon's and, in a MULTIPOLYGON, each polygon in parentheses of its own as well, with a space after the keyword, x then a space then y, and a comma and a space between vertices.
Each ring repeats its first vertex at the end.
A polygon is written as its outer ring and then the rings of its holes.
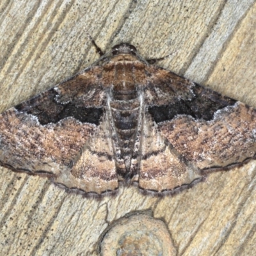
POLYGON ((171 145, 166 145, 150 118, 144 120, 141 143, 140 188, 161 192, 201 177, 196 168, 182 161, 171 145))

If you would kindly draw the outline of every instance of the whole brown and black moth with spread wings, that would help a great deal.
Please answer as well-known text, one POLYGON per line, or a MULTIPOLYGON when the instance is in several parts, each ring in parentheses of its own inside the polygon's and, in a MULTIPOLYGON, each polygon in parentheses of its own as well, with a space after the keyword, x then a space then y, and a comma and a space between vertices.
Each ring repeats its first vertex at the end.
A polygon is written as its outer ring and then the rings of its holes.
MULTIPOLYGON (((97 45, 94 43, 95 47, 97 45)), ((122 43, 0 115, 0 164, 83 195, 172 194, 256 157, 256 110, 122 43)))

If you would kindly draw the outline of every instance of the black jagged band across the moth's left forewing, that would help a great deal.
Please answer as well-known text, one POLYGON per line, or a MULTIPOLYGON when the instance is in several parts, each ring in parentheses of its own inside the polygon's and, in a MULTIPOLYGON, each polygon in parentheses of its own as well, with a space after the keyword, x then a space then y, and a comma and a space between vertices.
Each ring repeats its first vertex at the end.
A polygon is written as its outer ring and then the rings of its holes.
POLYGON ((63 118, 72 116, 82 123, 90 123, 99 125, 100 118, 103 115, 102 108, 86 108, 84 106, 76 106, 74 102, 61 104, 57 102, 58 93, 51 89, 42 95, 23 102, 15 108, 23 113, 35 115, 42 125, 49 123, 58 123, 63 118), (47 98, 47 99, 46 99, 47 98))

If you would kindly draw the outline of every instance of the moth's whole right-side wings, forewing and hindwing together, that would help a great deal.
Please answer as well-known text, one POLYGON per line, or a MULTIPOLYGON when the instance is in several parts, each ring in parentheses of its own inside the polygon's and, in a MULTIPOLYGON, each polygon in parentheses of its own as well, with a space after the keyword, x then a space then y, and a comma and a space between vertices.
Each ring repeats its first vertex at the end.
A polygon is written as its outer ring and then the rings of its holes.
POLYGON ((163 68, 148 73, 141 188, 174 189, 255 157, 255 109, 163 68))

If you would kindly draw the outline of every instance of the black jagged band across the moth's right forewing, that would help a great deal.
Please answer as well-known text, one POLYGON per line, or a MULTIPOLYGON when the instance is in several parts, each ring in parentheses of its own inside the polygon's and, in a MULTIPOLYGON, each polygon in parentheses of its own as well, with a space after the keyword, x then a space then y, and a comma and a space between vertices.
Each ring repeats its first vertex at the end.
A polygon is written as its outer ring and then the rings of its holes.
POLYGON ((177 100, 163 106, 149 106, 148 113, 156 123, 172 120, 177 115, 189 115, 195 119, 212 120, 218 109, 234 105, 237 100, 223 96, 198 84, 193 87, 191 100, 177 100))

